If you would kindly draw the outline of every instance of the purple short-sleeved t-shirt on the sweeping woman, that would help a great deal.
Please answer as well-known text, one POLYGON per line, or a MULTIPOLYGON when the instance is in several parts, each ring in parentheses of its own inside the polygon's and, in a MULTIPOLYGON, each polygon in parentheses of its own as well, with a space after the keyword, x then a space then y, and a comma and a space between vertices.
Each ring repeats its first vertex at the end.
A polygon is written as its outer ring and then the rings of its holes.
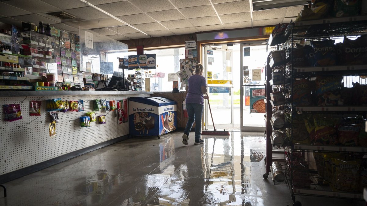
POLYGON ((204 95, 201 93, 201 87, 206 87, 205 77, 195 74, 188 79, 188 93, 186 103, 196 103, 204 105, 204 95))

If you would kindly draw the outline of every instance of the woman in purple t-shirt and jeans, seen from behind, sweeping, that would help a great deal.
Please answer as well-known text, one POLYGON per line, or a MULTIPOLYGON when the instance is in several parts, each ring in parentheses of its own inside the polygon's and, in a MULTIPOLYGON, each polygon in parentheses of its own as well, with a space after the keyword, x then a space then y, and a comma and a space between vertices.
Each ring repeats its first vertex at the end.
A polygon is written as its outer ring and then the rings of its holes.
POLYGON ((182 143, 188 144, 190 130, 194 122, 195 126, 195 145, 203 144, 204 141, 200 139, 201 136, 201 117, 204 109, 204 99, 209 99, 204 96, 207 93, 207 83, 203 77, 204 67, 201 64, 195 66, 194 75, 188 79, 188 93, 186 95, 186 110, 189 115, 189 120, 186 123, 186 128, 183 131, 182 143))

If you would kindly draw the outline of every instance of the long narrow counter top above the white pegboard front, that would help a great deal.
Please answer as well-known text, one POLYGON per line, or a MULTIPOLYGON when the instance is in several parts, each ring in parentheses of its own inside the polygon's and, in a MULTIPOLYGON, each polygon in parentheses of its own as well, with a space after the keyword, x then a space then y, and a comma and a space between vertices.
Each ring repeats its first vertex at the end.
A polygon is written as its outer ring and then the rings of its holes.
POLYGON ((150 95, 152 93, 153 92, 137 91, 0 91, 0 97, 66 95, 150 95))

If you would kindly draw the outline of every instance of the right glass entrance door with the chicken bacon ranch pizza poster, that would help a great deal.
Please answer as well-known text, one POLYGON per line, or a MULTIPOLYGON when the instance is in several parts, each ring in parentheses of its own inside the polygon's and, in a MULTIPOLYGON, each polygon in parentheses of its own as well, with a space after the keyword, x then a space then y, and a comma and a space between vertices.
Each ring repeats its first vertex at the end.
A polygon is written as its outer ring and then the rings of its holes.
POLYGON ((265 131, 266 45, 262 42, 240 45, 241 131, 265 131))

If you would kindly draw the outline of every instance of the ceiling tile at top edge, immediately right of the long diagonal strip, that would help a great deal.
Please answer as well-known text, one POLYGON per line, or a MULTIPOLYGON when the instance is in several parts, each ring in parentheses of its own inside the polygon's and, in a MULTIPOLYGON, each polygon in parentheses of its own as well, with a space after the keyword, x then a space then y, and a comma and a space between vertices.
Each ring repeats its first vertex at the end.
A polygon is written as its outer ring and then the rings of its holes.
POLYGON ((101 4, 98 5, 99 8, 109 12, 114 16, 123 16, 123 15, 131 15, 131 14, 141 14, 142 12, 130 4, 128 1, 119 1, 110 4, 101 4))

